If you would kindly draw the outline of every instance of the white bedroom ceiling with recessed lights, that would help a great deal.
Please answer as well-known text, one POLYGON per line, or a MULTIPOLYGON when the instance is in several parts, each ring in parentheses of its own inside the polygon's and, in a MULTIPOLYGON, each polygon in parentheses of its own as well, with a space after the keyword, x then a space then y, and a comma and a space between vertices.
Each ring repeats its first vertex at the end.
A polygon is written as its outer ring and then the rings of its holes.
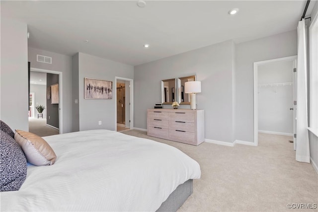
POLYGON ((239 43, 296 30, 306 0, 146 0, 143 8, 137 0, 0 4, 1 17, 28 24, 29 47, 135 66, 230 39, 239 43), (232 8, 239 12, 229 15, 232 8))

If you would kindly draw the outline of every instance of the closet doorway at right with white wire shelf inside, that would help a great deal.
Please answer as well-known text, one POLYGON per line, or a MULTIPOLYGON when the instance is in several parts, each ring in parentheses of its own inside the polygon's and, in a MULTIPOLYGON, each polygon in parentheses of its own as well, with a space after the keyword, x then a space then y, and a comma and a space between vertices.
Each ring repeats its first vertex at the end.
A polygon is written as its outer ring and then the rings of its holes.
POLYGON ((254 63, 254 145, 258 133, 290 136, 296 148, 297 56, 254 63))

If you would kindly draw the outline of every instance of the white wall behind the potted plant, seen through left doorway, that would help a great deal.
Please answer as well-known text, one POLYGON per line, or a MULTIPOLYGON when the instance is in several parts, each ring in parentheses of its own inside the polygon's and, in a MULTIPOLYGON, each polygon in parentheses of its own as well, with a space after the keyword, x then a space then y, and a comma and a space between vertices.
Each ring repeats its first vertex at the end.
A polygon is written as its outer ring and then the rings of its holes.
POLYGON ((34 92, 34 118, 38 117, 38 111, 35 109, 38 105, 43 105, 43 119, 46 119, 46 85, 30 85, 30 92, 34 92))

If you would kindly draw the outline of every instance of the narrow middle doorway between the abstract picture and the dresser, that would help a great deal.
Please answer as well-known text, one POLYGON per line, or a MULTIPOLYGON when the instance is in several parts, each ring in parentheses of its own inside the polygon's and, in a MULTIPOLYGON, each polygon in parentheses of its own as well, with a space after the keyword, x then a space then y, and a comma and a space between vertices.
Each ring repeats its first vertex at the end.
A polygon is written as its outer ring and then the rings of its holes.
POLYGON ((133 127, 132 124, 132 94, 133 80, 116 77, 116 131, 126 131, 133 127))

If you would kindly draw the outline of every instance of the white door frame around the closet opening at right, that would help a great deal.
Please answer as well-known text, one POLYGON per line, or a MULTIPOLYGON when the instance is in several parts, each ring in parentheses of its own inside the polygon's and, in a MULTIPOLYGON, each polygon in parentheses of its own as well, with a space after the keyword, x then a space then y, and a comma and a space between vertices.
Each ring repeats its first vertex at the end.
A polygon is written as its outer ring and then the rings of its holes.
MULTIPOLYGON (((258 66, 265 64, 272 64, 278 62, 297 61, 297 55, 277 58, 266 61, 258 61, 253 63, 253 75, 254 75, 254 145, 258 145, 258 66)), ((295 63, 296 65, 296 63, 295 63)), ((292 71, 292 70, 291 70, 292 71)), ((295 86, 295 85, 293 85, 295 86)), ((295 145, 296 143, 294 143, 295 145)))

